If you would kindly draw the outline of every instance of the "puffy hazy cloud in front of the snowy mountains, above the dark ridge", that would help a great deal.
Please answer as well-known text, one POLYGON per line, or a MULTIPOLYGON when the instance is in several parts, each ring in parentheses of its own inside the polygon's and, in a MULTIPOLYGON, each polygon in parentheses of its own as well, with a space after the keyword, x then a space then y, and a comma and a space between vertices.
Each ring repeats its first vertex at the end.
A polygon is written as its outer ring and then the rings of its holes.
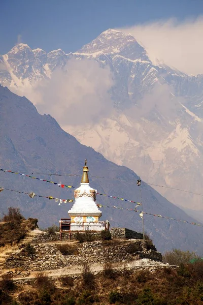
POLYGON ((65 69, 55 70, 50 79, 21 89, 42 114, 51 114, 60 126, 95 123, 110 114, 113 85, 109 67, 100 68, 88 59, 71 59, 65 69))

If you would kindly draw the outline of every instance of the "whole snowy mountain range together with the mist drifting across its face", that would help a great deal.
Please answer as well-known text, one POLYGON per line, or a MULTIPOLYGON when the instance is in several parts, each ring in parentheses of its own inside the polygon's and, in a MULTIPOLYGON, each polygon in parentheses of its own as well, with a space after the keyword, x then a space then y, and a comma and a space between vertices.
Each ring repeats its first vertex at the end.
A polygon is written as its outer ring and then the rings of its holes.
MULTIPOLYGON (((203 75, 154 65, 133 36, 109 29, 75 53, 18 44, 0 81, 81 143, 147 182, 201 193, 203 75)), ((157 189, 202 209, 201 196, 157 189)))

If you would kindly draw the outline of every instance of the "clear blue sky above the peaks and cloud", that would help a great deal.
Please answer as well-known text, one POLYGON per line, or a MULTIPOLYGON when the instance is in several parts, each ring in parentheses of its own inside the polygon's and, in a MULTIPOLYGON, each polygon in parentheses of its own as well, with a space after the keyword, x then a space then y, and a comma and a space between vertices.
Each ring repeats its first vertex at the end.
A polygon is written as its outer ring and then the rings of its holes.
POLYGON ((0 54, 19 40, 47 52, 76 51, 107 28, 202 13, 202 0, 0 0, 0 54))

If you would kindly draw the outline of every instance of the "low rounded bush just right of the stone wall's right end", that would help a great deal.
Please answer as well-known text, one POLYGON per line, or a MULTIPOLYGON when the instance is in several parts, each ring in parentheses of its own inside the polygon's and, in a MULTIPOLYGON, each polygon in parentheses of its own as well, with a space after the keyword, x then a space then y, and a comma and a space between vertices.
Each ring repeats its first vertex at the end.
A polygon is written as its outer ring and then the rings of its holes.
POLYGON ((199 257, 195 252, 181 251, 179 249, 173 249, 172 251, 166 251, 163 255, 163 262, 170 265, 180 266, 181 263, 188 264, 192 259, 198 259, 199 257))

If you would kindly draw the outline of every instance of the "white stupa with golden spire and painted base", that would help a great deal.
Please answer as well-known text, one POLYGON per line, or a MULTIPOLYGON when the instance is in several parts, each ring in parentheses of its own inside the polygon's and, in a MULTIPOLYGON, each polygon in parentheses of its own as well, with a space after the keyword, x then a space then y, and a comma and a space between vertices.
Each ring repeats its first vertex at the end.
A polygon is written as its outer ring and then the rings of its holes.
POLYGON ((71 217, 71 231, 101 231, 109 229, 108 221, 99 221, 101 211, 96 205, 96 190, 89 186, 87 160, 83 166, 81 184, 75 190, 75 203, 68 211, 71 217))

